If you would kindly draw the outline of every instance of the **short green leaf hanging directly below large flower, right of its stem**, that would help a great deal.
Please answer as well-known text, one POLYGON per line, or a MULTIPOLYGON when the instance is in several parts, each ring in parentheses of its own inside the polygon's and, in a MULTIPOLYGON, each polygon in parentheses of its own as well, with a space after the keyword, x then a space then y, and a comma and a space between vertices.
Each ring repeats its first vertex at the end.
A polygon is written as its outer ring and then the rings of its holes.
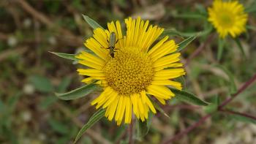
POLYGON ((148 134, 150 125, 148 124, 148 121, 143 122, 141 120, 138 120, 137 124, 138 124, 137 137, 138 137, 139 140, 142 140, 143 137, 145 137, 146 134, 148 134))

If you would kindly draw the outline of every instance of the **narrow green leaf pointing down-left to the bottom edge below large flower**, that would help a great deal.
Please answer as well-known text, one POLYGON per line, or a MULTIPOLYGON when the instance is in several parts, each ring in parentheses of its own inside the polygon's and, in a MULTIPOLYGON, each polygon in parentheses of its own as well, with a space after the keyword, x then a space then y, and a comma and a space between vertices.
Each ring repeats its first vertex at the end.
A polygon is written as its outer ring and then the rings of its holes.
POLYGON ((83 125, 82 129, 78 132, 77 136, 75 137, 75 142, 77 143, 80 137, 86 132, 87 129, 89 129, 91 126, 93 126, 97 121, 99 121, 101 118, 103 118, 105 115, 105 109, 100 109, 94 115, 91 116, 87 124, 83 125))

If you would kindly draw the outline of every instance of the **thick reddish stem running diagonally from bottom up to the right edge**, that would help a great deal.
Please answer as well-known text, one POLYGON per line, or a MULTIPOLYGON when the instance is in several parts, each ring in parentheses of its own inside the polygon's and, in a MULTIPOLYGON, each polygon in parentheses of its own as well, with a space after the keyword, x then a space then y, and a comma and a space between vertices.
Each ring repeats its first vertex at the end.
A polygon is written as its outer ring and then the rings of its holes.
MULTIPOLYGON (((248 88, 248 86, 250 86, 254 81, 256 80, 256 74, 249 79, 248 81, 246 81, 246 83, 244 83, 243 86, 241 86, 241 88, 239 88, 239 90, 237 91, 236 94, 233 94, 232 97, 226 99, 224 102, 222 102, 221 105, 219 105, 218 110, 221 110, 222 107, 225 107, 225 105, 227 105, 229 102, 231 102, 236 96, 238 96, 238 94, 241 94, 242 91, 244 91, 246 88, 248 88)), ((166 140, 164 143, 173 143, 174 140, 177 140, 178 138, 183 137, 185 134, 188 134, 190 131, 192 131, 192 129, 195 129, 197 126, 200 126, 201 124, 203 124, 204 121, 207 120, 207 118, 211 117, 211 114, 208 114, 206 116, 204 116, 203 118, 200 118, 199 121, 197 121, 195 124, 192 124, 191 126, 189 126, 187 129, 185 129, 182 132, 179 132, 178 134, 176 134, 173 137, 170 137, 169 140, 166 140)))

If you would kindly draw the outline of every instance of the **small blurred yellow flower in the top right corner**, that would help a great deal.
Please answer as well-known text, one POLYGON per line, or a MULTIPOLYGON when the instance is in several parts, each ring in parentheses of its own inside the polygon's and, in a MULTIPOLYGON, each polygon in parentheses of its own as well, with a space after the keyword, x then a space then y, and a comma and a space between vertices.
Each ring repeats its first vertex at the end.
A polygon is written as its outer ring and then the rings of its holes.
POLYGON ((208 8, 208 15, 208 21, 214 25, 221 38, 225 38, 227 34, 237 37, 246 31, 248 15, 238 1, 215 0, 213 7, 208 8))

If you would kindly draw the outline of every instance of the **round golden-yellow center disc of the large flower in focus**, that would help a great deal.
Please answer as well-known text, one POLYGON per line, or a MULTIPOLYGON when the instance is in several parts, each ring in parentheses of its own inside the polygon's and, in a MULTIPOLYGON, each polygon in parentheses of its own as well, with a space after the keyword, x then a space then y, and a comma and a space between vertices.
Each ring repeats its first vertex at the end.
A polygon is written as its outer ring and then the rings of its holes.
POLYGON ((123 95, 146 90, 154 77, 153 64, 146 53, 129 47, 116 50, 114 54, 103 68, 108 86, 123 95))

